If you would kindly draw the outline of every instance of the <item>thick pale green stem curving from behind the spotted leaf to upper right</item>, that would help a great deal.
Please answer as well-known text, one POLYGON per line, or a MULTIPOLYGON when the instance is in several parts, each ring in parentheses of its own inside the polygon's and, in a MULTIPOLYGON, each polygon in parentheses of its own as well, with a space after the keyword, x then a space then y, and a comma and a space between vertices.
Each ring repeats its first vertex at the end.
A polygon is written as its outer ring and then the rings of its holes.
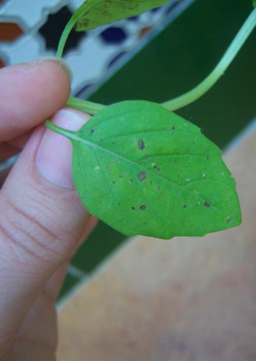
POLYGON ((217 64, 215 69, 204 79, 204 81, 188 93, 162 103, 163 107, 173 111, 194 102, 202 95, 204 95, 224 74, 225 70, 228 68, 228 66, 246 41, 247 37, 249 36, 255 25, 256 9, 254 9, 250 13, 249 17, 235 36, 233 42, 222 57, 221 61, 217 64))

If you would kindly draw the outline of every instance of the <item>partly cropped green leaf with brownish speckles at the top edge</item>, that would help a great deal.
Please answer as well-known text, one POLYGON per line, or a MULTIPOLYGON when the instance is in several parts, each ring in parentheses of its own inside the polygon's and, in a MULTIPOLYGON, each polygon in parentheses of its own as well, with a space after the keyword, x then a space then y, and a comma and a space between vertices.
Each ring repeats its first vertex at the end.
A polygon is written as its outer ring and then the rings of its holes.
POLYGON ((85 31, 139 15, 168 3, 168 0, 87 0, 79 9, 75 29, 85 31))

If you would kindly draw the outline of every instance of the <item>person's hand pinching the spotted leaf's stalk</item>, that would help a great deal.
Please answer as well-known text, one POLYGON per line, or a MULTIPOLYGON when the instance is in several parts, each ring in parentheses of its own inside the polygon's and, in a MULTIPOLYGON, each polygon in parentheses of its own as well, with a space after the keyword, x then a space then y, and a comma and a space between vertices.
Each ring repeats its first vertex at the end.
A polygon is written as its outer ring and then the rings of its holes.
POLYGON ((0 70, 0 162, 22 152, 0 190, 0 361, 55 359, 54 302, 70 257, 96 224, 71 177, 71 144, 89 116, 60 110, 69 77, 56 61, 0 70), (60 111, 59 111, 60 110, 60 111))

